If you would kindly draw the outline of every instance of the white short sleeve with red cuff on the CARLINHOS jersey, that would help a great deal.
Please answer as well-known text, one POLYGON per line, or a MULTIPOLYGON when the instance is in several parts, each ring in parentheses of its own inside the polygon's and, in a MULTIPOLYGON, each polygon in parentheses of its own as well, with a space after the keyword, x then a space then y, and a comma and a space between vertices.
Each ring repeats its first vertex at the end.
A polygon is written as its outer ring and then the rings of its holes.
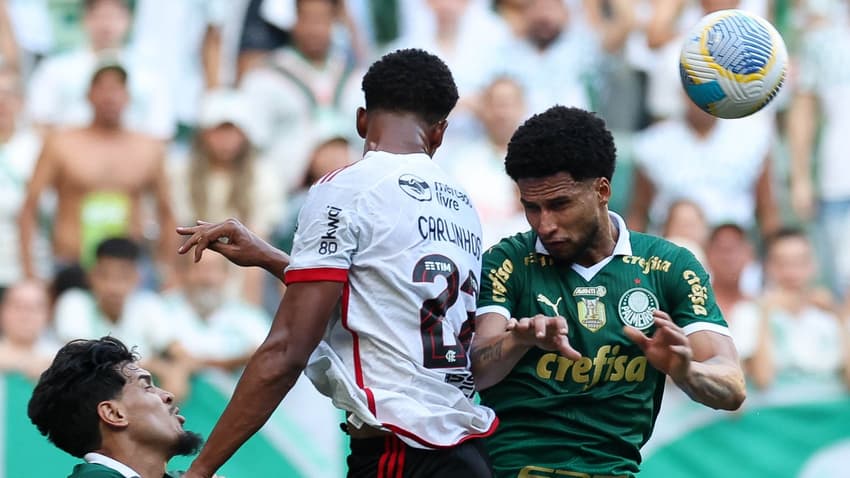
POLYGON ((359 227, 351 188, 318 184, 310 190, 292 244, 287 284, 348 279, 359 227))

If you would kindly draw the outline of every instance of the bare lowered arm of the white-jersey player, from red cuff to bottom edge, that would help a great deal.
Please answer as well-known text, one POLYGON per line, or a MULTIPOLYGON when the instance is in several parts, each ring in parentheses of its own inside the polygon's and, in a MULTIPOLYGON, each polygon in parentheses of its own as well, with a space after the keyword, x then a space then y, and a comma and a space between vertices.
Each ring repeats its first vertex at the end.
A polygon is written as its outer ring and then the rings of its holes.
POLYGON ((286 289, 268 337, 248 361, 230 403, 185 478, 213 476, 266 423, 322 339, 342 286, 296 282, 286 289))

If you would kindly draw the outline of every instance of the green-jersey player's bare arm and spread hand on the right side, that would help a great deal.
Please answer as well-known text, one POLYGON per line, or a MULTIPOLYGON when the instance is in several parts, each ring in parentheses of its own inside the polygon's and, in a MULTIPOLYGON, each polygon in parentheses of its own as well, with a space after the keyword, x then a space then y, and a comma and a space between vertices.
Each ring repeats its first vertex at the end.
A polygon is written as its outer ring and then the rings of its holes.
POLYGON ((737 410, 747 392, 732 339, 708 330, 685 335, 666 312, 656 310, 653 315, 652 337, 634 327, 625 328, 649 363, 669 375, 691 399, 711 408, 737 410))

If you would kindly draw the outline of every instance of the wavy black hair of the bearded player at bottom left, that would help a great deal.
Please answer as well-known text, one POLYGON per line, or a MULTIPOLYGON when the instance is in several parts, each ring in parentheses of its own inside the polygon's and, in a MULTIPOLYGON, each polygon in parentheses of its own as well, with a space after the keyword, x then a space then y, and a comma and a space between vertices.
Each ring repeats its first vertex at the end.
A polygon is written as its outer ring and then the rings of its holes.
POLYGON ((59 349, 41 374, 27 415, 60 450, 82 458, 101 447, 97 404, 120 397, 123 368, 139 360, 115 337, 74 340, 59 349))

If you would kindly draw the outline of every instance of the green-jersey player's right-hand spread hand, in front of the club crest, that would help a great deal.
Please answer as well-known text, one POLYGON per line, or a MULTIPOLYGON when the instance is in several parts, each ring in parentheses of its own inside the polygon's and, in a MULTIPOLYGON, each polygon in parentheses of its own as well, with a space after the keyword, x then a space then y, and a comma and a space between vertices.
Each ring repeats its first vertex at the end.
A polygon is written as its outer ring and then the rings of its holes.
POLYGON ((687 377, 691 369, 691 343, 685 331, 666 312, 656 310, 652 315, 655 317, 655 333, 652 337, 647 337, 634 327, 626 326, 624 331, 640 347, 653 367, 678 383, 687 377))

